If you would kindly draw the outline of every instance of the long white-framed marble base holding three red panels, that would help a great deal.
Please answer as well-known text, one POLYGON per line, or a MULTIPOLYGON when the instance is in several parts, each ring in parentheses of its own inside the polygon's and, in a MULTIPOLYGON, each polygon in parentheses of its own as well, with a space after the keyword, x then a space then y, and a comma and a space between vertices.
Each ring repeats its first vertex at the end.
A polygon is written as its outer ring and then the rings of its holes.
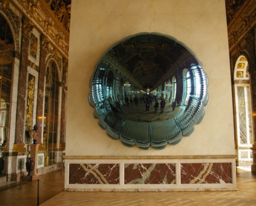
POLYGON ((66 159, 65 191, 231 191, 235 159, 66 159))

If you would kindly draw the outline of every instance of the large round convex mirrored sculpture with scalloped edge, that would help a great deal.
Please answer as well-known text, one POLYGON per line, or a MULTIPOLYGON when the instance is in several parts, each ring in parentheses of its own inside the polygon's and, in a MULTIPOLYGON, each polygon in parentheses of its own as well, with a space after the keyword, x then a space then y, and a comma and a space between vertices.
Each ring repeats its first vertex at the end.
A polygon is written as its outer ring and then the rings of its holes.
POLYGON ((91 78, 89 104, 110 138, 128 147, 163 149, 179 143, 202 121, 207 85, 201 62, 182 42, 139 33, 101 56, 91 78))

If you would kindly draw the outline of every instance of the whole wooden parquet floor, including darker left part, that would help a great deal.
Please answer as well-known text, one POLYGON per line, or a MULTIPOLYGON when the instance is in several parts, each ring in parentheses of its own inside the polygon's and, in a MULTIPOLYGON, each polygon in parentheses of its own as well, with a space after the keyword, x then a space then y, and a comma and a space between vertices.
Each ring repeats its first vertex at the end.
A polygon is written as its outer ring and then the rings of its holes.
MULTIPOLYGON (((256 175, 238 169, 238 191, 225 192, 62 192, 61 170, 39 176, 42 206, 256 206, 256 175)), ((37 181, 0 187, 0 205, 37 205, 37 181)))

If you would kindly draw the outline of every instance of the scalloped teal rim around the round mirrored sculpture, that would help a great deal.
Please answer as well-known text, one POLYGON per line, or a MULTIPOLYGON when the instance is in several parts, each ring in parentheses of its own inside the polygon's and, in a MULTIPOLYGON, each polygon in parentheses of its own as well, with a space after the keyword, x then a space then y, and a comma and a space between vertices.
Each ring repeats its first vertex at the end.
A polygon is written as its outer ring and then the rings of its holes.
POLYGON ((107 49, 106 52, 101 56, 99 61, 97 62, 95 66, 94 73, 92 74, 89 87, 91 88, 91 92, 88 95, 88 101, 89 105, 93 108, 95 108, 94 111, 94 117, 98 118, 98 125, 102 129, 107 130, 107 135, 113 139, 118 140, 120 139, 122 144, 127 147, 133 147, 137 145, 140 149, 147 150, 150 146, 154 149, 164 149, 167 144, 170 145, 176 145, 182 140, 182 136, 189 136, 194 131, 194 126, 197 124, 200 124, 204 114, 205 110, 204 107, 207 105, 208 102, 208 77, 206 73, 204 72, 202 68, 202 63, 198 60, 197 57, 195 57, 194 53, 191 49, 189 49, 184 43, 178 41, 174 37, 171 37, 169 35, 162 35, 161 33, 157 32, 141 32, 137 33, 135 35, 128 36, 115 44, 113 44, 111 47, 107 49), (105 121, 104 117, 109 112, 101 113, 97 109, 97 105, 101 102, 107 100, 108 98, 104 98, 103 100, 100 100, 98 102, 94 101, 93 93, 93 80, 95 77, 95 73, 97 71, 98 64, 101 61, 101 59, 106 55, 114 46, 117 46, 118 44, 126 41, 127 39, 137 37, 139 35, 159 35, 163 36, 165 38, 169 38, 170 40, 175 41, 175 43, 182 45, 185 47, 190 54, 198 61, 198 65, 196 65, 198 68, 200 68, 202 75, 205 77, 204 85, 202 85, 202 90, 204 90, 204 96, 202 99, 199 99, 198 97, 195 97, 193 95, 190 95, 188 100, 188 105, 185 109, 183 109, 177 116, 174 116, 171 119, 167 119, 165 121, 161 122, 133 122, 129 119, 120 119, 114 128, 111 128, 105 121), (160 130, 156 129, 159 128, 160 130), (156 132, 157 130, 157 132, 156 132), (160 132, 159 134, 159 131, 160 132))

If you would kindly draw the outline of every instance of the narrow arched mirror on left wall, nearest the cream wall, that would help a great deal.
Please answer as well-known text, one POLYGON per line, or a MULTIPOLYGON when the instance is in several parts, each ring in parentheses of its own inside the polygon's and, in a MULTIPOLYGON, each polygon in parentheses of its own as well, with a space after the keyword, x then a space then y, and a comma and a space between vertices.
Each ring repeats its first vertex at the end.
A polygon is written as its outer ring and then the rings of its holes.
POLYGON ((54 61, 51 61, 47 67, 44 100, 43 146, 47 150, 44 164, 48 166, 55 163, 53 149, 56 148, 58 131, 59 78, 54 61))

